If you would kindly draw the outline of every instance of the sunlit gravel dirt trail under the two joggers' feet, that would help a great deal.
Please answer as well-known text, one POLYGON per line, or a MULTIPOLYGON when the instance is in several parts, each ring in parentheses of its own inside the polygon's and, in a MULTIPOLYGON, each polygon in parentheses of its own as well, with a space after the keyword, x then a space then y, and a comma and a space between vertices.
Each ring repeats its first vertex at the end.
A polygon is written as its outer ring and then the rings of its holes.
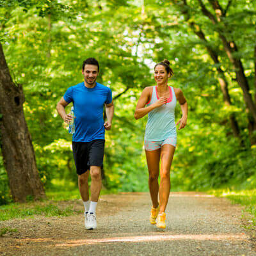
MULTIPOLYGON (((61 204, 67 204, 61 203, 61 204)), ((74 209, 82 210, 80 202, 74 209)), ((18 234, 0 237, 0 255, 255 255, 241 227, 241 207, 203 193, 172 193, 166 230, 148 221, 148 193, 100 197, 97 230, 83 215, 2 221, 18 234)))

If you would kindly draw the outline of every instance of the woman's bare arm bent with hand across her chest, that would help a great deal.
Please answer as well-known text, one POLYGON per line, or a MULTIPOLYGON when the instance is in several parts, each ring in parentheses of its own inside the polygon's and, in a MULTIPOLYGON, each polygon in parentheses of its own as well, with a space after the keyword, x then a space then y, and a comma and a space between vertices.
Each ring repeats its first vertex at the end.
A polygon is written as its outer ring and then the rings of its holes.
POLYGON ((147 113, 149 113, 153 109, 158 108, 158 107, 162 106, 163 104, 166 104, 167 98, 161 97, 154 104, 144 108, 145 105, 147 104, 147 102, 150 100, 151 95, 152 95, 152 87, 146 87, 143 90, 143 92, 141 93, 140 99, 138 100, 138 103, 137 103, 137 106, 135 109, 135 113, 134 113, 135 119, 139 119, 139 118, 147 115, 147 113))

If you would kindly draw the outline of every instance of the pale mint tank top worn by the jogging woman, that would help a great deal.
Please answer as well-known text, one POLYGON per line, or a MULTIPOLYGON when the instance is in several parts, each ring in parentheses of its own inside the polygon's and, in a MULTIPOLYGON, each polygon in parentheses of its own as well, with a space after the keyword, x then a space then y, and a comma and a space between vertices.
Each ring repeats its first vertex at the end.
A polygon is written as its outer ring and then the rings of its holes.
MULTIPOLYGON (((177 99, 173 87, 168 86, 168 88, 170 90, 170 97, 167 103, 148 113, 145 140, 160 141, 177 136, 174 116, 177 99)), ((154 86, 151 100, 148 102, 147 106, 154 104, 158 99, 157 87, 154 86)))

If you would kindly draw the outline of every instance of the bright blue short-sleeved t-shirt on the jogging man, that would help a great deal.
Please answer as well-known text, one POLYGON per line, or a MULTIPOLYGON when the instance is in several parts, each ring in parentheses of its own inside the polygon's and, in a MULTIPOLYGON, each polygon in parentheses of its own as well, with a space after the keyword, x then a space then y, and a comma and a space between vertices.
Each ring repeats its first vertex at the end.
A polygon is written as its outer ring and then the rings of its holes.
POLYGON ((110 88, 99 83, 93 88, 88 88, 83 82, 68 88, 63 98, 74 105, 76 118, 73 141, 104 140, 103 107, 105 103, 112 102, 110 88))

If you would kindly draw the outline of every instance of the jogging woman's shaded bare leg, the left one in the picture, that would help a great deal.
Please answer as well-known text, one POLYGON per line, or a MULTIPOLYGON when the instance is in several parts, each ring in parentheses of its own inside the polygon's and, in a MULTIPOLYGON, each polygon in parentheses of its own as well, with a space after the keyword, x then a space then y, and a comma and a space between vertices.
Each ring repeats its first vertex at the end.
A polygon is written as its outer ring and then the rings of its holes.
POLYGON ((152 205, 154 208, 158 206, 158 176, 159 176, 159 161, 160 161, 160 151, 161 149, 146 152, 147 164, 148 164, 148 188, 150 191, 150 196, 152 200, 152 205))

